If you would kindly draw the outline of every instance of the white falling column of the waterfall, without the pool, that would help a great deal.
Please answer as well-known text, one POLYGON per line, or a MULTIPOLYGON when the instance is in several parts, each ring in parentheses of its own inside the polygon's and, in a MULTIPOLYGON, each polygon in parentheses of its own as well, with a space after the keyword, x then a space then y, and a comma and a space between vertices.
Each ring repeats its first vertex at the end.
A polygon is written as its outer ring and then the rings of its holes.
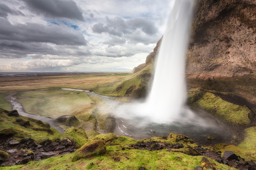
POLYGON ((183 112, 186 99, 185 51, 193 7, 193 0, 176 0, 171 10, 155 66, 152 89, 146 101, 153 120, 177 119, 183 112))

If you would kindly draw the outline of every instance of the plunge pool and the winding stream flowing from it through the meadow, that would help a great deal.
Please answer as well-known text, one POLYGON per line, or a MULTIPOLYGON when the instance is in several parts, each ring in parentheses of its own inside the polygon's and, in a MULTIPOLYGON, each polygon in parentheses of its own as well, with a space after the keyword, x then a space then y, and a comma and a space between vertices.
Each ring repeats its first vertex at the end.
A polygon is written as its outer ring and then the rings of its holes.
MULTIPOLYGON (((169 124, 155 122, 145 123, 145 117, 135 117, 134 119, 129 119, 127 117, 125 118, 119 116, 118 108, 120 106, 129 106, 131 104, 124 101, 116 100, 115 98, 117 97, 99 95, 95 94, 94 92, 85 91, 81 89, 61 90, 73 90, 81 92, 84 91, 88 95, 99 97, 102 101, 104 101, 107 105, 111 107, 111 115, 114 116, 116 119, 116 128, 113 133, 119 136, 127 136, 134 138, 135 140, 139 140, 142 138, 151 138, 153 136, 168 136, 171 132, 174 132, 176 134, 186 135, 192 140, 194 140, 194 142, 207 144, 209 142, 227 142, 234 135, 234 133, 231 130, 228 130, 227 127, 225 127, 224 125, 220 125, 220 123, 216 121, 213 117, 203 112, 194 112, 194 114, 197 116, 196 120, 189 120, 185 123, 179 121, 171 122, 169 124), (215 140, 206 140, 207 136, 212 136, 215 138, 215 140)), ((18 113, 22 116, 31 117, 33 119, 49 123, 51 127, 56 128, 56 130, 60 131, 61 133, 65 131, 65 129, 58 126, 55 122, 55 119, 52 119, 51 117, 29 114, 26 111, 24 111, 22 104, 16 101, 16 97, 14 97, 14 95, 15 93, 5 97, 7 101, 11 103, 12 110, 17 110, 18 113)), ((133 102, 136 102, 136 100, 133 100, 133 102)), ((129 114, 129 110, 127 111, 127 114, 129 114)))

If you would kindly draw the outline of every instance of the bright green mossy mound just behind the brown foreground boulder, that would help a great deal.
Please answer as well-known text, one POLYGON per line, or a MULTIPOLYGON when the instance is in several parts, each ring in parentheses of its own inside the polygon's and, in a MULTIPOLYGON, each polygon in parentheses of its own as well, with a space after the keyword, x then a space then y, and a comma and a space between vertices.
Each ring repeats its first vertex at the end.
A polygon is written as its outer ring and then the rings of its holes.
POLYGON ((86 133, 83 130, 75 127, 68 128, 64 132, 63 137, 73 138, 78 147, 81 147, 88 142, 86 133))

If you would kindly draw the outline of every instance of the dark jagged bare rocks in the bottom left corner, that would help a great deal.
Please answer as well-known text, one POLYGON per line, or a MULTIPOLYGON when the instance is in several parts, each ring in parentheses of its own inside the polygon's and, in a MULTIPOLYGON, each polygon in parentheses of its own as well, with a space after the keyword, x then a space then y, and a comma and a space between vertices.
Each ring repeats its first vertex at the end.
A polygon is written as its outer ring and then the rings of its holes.
POLYGON ((15 164, 26 164, 29 161, 41 161, 42 159, 59 156, 61 154, 76 151, 77 145, 74 140, 64 138, 63 140, 45 140, 39 144, 32 138, 22 138, 17 141, 8 138, 0 141, 0 150, 8 153, 8 158, 0 160, 0 166, 13 166, 15 164))

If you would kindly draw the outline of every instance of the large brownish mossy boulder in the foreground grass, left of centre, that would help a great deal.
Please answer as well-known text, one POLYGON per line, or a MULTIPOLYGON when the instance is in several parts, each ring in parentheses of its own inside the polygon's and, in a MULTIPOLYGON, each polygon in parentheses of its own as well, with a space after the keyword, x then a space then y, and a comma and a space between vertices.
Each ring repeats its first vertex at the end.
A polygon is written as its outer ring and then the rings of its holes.
POLYGON ((83 145, 76 151, 72 161, 77 161, 81 158, 88 158, 91 156, 100 156, 106 153, 106 145, 103 140, 94 140, 88 144, 83 145))

